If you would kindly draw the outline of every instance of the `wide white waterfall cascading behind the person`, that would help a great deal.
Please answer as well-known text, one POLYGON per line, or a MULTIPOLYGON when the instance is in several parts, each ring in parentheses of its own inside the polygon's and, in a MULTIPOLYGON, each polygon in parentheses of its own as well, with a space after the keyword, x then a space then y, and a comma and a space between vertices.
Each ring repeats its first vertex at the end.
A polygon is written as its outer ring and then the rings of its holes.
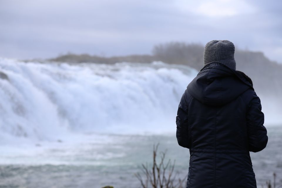
MULTIPOLYGON (((0 58, 0 144, 15 137, 55 140, 69 132, 175 131, 180 98, 197 73, 162 62, 70 65, 0 58)), ((271 114, 265 123, 281 122, 271 108, 263 107, 271 114)))

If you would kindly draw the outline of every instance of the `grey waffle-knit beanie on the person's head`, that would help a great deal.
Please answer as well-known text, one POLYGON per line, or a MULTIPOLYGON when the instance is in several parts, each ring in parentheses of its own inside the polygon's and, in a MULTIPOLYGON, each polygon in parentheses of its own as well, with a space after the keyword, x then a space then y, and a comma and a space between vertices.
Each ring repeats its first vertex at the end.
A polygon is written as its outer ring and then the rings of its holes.
POLYGON ((204 50, 204 66, 218 62, 236 70, 234 44, 226 40, 213 40, 206 44, 204 50))

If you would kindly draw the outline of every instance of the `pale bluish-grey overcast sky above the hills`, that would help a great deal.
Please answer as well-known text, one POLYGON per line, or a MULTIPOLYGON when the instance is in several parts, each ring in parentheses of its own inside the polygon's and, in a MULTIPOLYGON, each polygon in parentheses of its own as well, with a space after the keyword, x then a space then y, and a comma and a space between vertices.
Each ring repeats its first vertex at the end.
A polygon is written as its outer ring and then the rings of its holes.
POLYGON ((276 0, 0 0, 0 57, 145 54, 216 39, 282 63, 281 18, 276 0))

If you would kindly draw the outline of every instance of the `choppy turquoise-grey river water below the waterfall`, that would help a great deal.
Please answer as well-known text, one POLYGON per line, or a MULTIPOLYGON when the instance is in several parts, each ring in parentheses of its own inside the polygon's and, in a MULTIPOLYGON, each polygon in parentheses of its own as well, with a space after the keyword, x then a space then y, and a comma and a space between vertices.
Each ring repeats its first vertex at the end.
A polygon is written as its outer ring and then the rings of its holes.
MULTIPOLYGON (((282 179, 282 126, 267 130, 266 149, 251 153, 258 187, 273 179, 273 172, 282 179)), ((167 150, 167 160, 176 160, 178 177, 185 178, 188 173, 189 150, 177 144, 174 134, 101 137, 111 141, 2 156, 0 187, 140 187, 134 174, 141 172, 142 163, 152 164, 152 149, 157 143, 159 152, 167 150)))

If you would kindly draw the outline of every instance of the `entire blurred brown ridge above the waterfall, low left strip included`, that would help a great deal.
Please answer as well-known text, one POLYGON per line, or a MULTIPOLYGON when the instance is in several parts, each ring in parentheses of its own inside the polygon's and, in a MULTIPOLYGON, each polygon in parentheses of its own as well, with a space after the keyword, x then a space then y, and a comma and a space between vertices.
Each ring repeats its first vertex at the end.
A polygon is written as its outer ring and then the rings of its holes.
MULTIPOLYGON (((165 63, 184 64, 197 70, 203 67, 204 46, 187 43, 165 43, 157 45, 152 55, 130 55, 100 57, 88 54, 66 54, 49 61, 69 63, 116 63, 139 62, 150 63, 163 61, 165 63)), ((260 94, 272 97, 282 95, 282 64, 270 61, 262 52, 235 50, 236 69, 246 73, 254 82, 254 88, 260 94)))

